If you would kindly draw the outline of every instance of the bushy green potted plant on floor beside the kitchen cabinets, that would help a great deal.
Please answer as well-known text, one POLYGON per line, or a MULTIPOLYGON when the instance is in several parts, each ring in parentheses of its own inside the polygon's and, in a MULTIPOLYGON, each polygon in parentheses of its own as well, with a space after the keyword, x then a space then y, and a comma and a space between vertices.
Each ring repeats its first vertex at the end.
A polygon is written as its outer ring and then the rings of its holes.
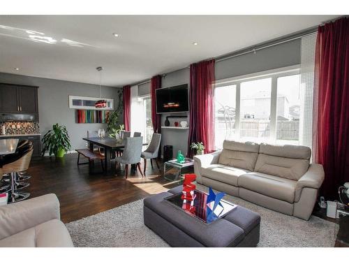
POLYGON ((54 124, 52 129, 45 133, 43 136, 43 151, 41 155, 43 156, 48 150, 48 154, 51 156, 52 153, 55 157, 64 157, 64 154, 68 152, 71 148, 70 139, 68 136, 68 131, 66 126, 59 126, 59 124, 54 124))

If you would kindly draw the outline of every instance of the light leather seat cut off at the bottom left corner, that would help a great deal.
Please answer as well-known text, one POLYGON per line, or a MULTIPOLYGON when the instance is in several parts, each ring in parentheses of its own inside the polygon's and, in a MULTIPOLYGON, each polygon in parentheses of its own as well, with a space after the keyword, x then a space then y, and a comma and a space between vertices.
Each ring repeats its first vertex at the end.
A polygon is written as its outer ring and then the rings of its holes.
POLYGON ((56 195, 0 207, 0 247, 73 247, 56 195))

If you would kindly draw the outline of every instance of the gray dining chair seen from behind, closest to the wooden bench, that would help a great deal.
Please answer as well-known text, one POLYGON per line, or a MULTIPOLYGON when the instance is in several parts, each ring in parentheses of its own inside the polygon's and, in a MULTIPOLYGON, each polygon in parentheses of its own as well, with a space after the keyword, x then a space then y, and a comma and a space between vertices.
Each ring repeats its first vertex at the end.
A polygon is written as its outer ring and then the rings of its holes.
POLYGON ((142 136, 135 138, 126 138, 124 152, 121 157, 116 157, 116 164, 125 164, 125 177, 128 175, 128 165, 135 164, 140 174, 143 176, 140 168, 140 154, 142 153, 143 138, 142 136))

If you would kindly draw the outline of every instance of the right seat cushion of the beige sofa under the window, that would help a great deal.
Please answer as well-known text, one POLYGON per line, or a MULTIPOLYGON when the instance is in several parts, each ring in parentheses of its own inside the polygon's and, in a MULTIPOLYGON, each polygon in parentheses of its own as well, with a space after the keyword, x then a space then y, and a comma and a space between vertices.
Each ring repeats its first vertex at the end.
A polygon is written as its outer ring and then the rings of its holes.
POLYGON ((294 180, 257 172, 239 176, 239 187, 289 203, 293 203, 295 200, 296 185, 297 182, 294 180))

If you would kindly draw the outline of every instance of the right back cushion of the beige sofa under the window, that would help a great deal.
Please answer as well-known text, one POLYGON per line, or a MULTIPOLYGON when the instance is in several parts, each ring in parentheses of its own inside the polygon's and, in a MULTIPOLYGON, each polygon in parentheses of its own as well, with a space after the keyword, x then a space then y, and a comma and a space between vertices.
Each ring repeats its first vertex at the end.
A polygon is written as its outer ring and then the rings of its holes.
POLYGON ((298 145, 260 145, 255 172, 299 180, 309 168, 311 150, 298 145))

